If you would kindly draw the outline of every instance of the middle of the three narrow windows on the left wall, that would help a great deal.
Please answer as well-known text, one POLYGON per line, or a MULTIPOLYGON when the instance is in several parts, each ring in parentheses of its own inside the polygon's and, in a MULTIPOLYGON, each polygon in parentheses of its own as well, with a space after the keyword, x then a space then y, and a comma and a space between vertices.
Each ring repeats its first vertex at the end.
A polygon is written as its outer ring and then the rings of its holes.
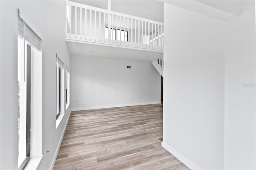
POLYGON ((58 58, 56 63, 56 119, 64 113, 64 63, 58 58))

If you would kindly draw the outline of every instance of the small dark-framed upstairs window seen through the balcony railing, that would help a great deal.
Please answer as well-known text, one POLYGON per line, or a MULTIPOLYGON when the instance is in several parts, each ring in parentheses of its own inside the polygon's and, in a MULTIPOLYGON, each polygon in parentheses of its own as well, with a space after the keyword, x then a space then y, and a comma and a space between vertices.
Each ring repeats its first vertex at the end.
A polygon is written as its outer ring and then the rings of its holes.
MULTIPOLYGON (((105 39, 108 39, 108 27, 105 27, 105 39)), ((110 28, 110 39, 118 41, 128 41, 128 31, 110 28)))

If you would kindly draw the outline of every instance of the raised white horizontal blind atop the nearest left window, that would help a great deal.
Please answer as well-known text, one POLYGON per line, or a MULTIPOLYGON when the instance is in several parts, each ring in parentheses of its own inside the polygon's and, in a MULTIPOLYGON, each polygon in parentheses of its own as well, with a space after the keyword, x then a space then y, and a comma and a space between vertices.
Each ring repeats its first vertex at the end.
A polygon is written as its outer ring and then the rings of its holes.
POLYGON ((20 15, 18 16, 18 35, 36 49, 41 49, 42 39, 20 18, 20 15))

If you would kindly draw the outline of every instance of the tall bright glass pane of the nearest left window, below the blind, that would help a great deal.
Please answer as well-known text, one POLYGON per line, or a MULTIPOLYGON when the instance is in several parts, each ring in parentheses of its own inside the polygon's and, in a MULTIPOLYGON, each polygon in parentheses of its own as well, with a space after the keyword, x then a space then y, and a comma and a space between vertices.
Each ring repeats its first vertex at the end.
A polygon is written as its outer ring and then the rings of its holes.
POLYGON ((31 46, 18 37, 18 168, 30 159, 31 46), (25 48, 24 48, 25 45, 25 48), (25 54, 25 55, 24 55, 25 54))

